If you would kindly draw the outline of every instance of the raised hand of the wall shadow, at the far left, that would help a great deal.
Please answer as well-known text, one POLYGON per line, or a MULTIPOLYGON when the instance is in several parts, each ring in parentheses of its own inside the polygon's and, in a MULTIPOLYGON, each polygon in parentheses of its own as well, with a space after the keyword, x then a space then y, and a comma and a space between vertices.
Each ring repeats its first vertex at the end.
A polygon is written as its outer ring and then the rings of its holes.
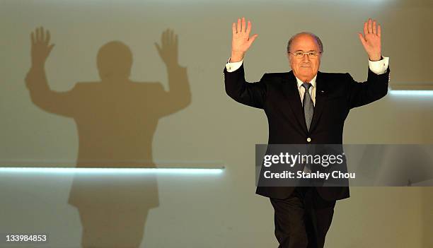
POLYGON ((44 28, 36 28, 31 34, 32 67, 43 67, 54 44, 50 45, 50 31, 44 32, 44 28))

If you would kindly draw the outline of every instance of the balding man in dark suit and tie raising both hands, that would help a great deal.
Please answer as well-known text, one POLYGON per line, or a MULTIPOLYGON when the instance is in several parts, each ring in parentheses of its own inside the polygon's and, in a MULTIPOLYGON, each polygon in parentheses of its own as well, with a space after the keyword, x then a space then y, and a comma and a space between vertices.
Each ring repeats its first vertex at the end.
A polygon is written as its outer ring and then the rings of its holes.
MULTIPOLYGON (((265 73, 248 83, 243 57, 257 34, 250 37, 245 18, 232 25, 231 58, 224 69, 226 93, 244 105, 265 111, 269 144, 341 144, 350 109, 379 100, 388 91, 388 58, 381 57, 381 26, 364 23, 359 33, 369 56, 367 81, 358 83, 349 73, 322 73, 323 45, 312 33, 291 37, 287 56, 291 71, 265 73)), ((332 222, 335 201, 350 196, 348 187, 259 187, 275 210, 279 247, 323 247, 332 222)))

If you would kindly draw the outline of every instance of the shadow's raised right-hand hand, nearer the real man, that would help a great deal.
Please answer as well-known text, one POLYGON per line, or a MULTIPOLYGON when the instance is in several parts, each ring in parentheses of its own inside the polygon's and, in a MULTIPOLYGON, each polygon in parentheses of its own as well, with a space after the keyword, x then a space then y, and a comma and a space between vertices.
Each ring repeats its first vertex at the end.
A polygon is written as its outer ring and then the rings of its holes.
POLYGON ((167 29, 161 35, 161 46, 155 42, 158 54, 167 66, 178 64, 178 35, 167 29))

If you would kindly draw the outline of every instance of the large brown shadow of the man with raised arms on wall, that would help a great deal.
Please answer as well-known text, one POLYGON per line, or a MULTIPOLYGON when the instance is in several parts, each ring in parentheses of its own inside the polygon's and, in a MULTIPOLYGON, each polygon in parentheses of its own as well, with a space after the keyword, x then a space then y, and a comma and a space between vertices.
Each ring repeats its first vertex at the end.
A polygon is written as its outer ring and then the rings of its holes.
MULTIPOLYGON (((152 140, 158 120, 190 105, 186 68, 178 64, 178 36, 166 30, 156 49, 166 64, 169 90, 161 83, 129 80, 132 52, 119 41, 100 47, 100 81, 50 89, 45 61, 54 45, 50 32, 31 35, 32 66, 25 82, 42 110, 71 117, 79 135, 76 167, 156 167, 152 140)), ((82 247, 139 247, 151 208, 158 207, 154 175, 75 175, 69 194, 83 226, 82 247)))

